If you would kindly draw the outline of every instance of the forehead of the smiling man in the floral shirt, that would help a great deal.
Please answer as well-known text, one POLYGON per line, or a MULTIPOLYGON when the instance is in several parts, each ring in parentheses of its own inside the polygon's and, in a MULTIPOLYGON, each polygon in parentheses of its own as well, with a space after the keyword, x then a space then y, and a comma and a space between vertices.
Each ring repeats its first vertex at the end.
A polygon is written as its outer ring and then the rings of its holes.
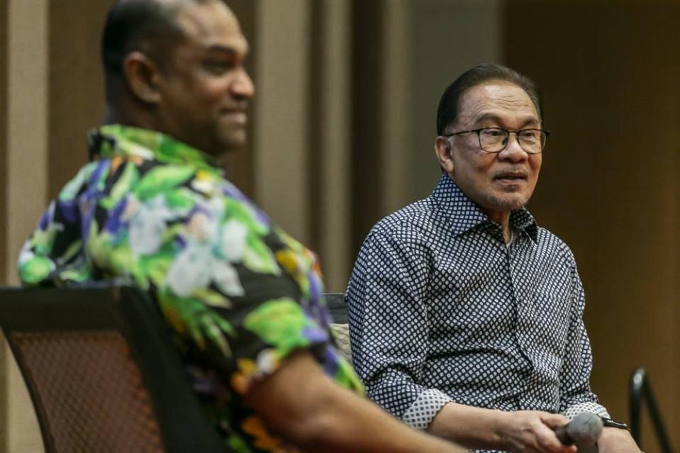
POLYGON ((247 53, 248 44, 238 19, 222 1, 184 6, 177 13, 177 24, 189 44, 226 47, 240 54, 247 53))

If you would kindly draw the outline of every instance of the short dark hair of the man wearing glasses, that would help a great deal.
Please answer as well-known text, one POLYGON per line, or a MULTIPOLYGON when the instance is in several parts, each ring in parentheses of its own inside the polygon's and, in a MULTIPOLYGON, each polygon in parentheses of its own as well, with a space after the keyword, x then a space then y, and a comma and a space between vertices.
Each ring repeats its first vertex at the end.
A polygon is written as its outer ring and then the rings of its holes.
POLYGON ((437 135, 442 135, 447 125, 456 120, 459 113, 460 99, 464 92, 473 86, 488 82, 489 80, 510 82, 526 91, 529 99, 531 99, 536 107, 538 118, 540 118, 541 123, 543 122, 541 95, 536 88, 536 84, 531 79, 509 67, 498 65, 497 63, 483 63, 460 74, 445 89, 437 107, 437 135))

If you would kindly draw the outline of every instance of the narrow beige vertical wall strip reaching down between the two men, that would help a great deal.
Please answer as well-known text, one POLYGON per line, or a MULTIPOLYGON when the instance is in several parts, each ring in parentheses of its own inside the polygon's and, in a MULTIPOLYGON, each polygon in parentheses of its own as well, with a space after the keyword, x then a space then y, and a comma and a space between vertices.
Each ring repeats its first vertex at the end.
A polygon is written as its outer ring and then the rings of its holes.
POLYGON ((347 0, 316 1, 316 107, 311 119, 311 241, 320 256, 327 291, 345 291, 350 267, 350 43, 347 0))

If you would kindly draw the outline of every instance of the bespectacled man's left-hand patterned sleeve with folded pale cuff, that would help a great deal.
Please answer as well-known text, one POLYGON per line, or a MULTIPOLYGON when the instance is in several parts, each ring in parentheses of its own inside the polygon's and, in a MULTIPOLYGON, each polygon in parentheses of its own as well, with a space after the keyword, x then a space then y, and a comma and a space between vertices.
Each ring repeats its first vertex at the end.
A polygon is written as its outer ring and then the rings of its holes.
POLYGON ((347 289, 352 359, 367 396, 404 422, 428 427, 450 398, 420 385, 428 352, 428 250, 374 231, 347 289))

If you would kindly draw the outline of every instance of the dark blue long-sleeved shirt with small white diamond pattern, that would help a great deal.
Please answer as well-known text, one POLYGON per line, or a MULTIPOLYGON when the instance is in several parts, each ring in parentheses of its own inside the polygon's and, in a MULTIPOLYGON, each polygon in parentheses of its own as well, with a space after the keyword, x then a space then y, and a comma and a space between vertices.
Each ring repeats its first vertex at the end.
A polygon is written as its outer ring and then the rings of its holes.
POLYGON ((606 415, 590 391, 574 256, 525 209, 510 223, 506 245, 444 175, 362 246, 346 295, 355 369, 369 398, 413 427, 450 401, 606 415))

